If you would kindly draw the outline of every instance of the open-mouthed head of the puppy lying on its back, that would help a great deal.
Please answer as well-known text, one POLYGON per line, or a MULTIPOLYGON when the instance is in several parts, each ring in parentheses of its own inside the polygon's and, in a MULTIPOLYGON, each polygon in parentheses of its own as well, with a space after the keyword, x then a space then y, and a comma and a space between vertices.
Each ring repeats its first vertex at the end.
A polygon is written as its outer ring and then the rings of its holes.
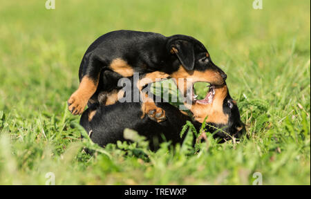
POLYGON ((226 84, 209 86, 204 99, 197 100, 194 95, 192 104, 186 106, 194 114, 194 120, 202 123, 207 118, 207 129, 220 138, 229 139, 232 135, 240 138, 245 131, 236 101, 230 97, 226 84))

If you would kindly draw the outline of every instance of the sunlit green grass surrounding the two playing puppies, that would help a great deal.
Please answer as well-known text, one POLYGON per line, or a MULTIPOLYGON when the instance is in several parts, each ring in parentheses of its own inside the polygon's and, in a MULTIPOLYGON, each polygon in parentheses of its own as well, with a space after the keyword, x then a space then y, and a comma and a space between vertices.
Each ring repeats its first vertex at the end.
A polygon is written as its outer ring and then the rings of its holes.
POLYGON ((0 184, 45 184, 48 172, 56 184, 252 184, 255 172, 263 184, 310 184, 310 1, 44 3, 0 1, 0 184), (153 153, 145 142, 81 140, 66 100, 88 45, 118 29, 202 41, 228 75, 249 139, 208 135, 195 154, 187 143, 153 153))

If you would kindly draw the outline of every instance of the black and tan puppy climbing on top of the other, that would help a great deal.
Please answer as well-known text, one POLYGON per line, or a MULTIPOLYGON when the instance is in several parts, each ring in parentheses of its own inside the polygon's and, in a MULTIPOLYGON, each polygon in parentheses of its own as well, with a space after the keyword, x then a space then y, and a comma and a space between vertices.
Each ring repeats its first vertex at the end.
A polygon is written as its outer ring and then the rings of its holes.
MULTIPOLYGON (((140 80, 135 82, 140 91, 143 86, 167 77, 215 85, 223 84, 227 77, 211 61, 205 46, 193 37, 117 30, 102 35, 86 50, 79 68, 79 88, 68 99, 69 111, 81 114, 86 104, 98 101, 100 93, 107 96, 104 104, 114 104, 120 90, 118 80, 133 73, 140 73, 140 80)), ((148 102, 143 106, 144 115, 162 122, 163 109, 152 100, 143 99, 144 102, 148 102)))

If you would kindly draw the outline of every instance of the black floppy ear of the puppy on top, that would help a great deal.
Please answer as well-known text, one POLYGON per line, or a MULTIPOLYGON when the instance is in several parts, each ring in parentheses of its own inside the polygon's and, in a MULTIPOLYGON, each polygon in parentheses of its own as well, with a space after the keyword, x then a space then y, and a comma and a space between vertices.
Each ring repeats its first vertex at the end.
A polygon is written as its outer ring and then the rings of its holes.
POLYGON ((184 39, 171 41, 170 53, 176 54, 182 66, 194 70, 194 44, 184 39))

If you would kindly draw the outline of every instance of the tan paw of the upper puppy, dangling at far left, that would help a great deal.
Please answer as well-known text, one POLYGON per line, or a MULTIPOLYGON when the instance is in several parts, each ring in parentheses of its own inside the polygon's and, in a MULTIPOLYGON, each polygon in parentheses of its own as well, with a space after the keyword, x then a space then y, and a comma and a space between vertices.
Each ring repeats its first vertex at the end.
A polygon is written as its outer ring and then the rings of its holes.
POLYGON ((68 110, 73 115, 81 115, 87 102, 88 101, 79 96, 79 94, 73 93, 67 101, 68 110))

